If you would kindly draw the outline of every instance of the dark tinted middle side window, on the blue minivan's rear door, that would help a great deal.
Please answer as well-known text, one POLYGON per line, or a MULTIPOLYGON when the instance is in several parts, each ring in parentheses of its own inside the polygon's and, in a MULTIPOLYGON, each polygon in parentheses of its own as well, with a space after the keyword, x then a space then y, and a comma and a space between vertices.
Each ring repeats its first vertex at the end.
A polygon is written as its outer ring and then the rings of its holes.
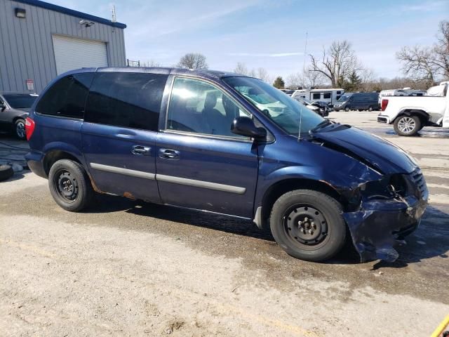
POLYGON ((168 75, 98 72, 86 105, 86 121, 157 131, 168 75))

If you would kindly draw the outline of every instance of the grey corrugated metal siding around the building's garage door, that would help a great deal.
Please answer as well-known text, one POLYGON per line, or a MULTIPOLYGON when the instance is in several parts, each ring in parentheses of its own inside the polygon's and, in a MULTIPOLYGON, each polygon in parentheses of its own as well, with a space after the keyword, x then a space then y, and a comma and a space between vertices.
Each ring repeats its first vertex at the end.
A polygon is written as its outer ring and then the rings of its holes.
POLYGON ((45 8, 0 0, 0 91, 27 91, 26 79, 34 80, 39 93, 56 77, 53 34, 103 41, 109 67, 126 65, 123 29, 95 22, 79 25, 79 18, 45 8), (15 17, 24 8, 27 18, 15 17))

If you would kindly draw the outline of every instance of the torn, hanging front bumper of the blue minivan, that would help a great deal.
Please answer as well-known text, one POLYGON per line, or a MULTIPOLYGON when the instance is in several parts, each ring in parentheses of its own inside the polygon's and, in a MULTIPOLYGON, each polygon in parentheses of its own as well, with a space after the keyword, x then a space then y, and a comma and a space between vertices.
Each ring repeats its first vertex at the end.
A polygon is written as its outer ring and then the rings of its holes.
POLYGON ((361 262, 386 260, 394 262, 394 246, 420 225, 427 207, 427 194, 418 199, 371 199, 363 201, 358 211, 343 213, 361 262))

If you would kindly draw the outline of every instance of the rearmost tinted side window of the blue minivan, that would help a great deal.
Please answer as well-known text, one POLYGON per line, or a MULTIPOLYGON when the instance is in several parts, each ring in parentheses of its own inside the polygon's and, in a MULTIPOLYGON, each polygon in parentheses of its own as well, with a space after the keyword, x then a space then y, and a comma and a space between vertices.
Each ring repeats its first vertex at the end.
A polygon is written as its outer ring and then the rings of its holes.
POLYGON ((92 79, 91 72, 62 77, 41 97, 37 103, 36 112, 83 119, 84 105, 92 79))

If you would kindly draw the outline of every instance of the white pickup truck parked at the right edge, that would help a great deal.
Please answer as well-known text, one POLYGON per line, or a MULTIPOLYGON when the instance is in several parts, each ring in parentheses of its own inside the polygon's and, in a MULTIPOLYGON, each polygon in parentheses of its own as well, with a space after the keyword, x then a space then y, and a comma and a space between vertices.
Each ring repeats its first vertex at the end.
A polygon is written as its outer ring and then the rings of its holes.
POLYGON ((413 136, 424 126, 449 128, 449 81, 432 86, 424 96, 382 98, 377 121, 394 124, 399 136, 413 136))

